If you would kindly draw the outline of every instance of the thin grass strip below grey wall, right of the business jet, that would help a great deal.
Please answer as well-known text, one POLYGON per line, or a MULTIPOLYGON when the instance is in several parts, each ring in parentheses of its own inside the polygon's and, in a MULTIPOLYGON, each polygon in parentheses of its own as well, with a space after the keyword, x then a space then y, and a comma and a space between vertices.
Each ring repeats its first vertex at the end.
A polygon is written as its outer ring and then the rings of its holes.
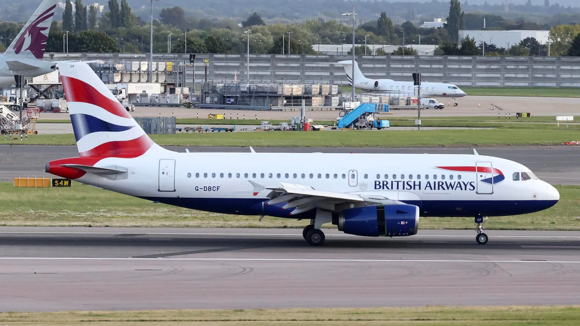
POLYGON ((576 87, 460 87, 467 95, 580 97, 576 87))

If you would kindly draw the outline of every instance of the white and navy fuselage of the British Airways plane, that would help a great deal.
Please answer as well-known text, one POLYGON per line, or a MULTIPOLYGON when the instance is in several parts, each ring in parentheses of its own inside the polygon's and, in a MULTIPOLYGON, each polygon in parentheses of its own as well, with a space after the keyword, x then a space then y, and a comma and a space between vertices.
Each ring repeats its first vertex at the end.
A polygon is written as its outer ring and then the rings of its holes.
MULTIPOLYGON (((63 159, 54 166, 82 159, 63 159)), ((284 203, 264 205, 269 198, 255 195, 249 180, 386 197, 417 205, 420 216, 519 215, 552 207, 559 199, 556 189, 525 166, 483 155, 166 151, 104 158, 94 166, 122 166, 128 173, 120 180, 92 173, 77 180, 178 207, 237 215, 306 219, 316 212, 291 216, 291 210, 281 209, 284 203), (534 178, 513 180, 513 173, 521 172, 534 178)))

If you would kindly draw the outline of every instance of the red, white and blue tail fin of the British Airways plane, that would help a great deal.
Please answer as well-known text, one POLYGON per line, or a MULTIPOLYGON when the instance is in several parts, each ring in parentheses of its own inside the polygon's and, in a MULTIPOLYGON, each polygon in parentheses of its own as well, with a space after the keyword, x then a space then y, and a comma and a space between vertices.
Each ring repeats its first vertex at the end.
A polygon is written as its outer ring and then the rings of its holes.
POLYGON ((147 136, 88 64, 58 66, 81 157, 135 158, 167 151, 147 136))

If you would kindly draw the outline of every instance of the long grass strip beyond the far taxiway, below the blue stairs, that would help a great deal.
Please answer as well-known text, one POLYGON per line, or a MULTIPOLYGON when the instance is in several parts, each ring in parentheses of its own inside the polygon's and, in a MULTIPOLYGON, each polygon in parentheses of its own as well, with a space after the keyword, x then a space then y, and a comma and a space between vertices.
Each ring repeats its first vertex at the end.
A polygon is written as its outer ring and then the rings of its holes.
MULTIPOLYGON (((403 122, 401 122, 403 124, 403 122)), ((409 124, 409 122, 405 122, 409 124)), ((432 124, 436 124, 433 122, 432 124)), ((449 125, 451 122, 445 122, 449 125)), ((473 126, 492 124, 473 122, 473 126)), ((424 126, 428 126, 425 124, 424 126)), ((463 124, 465 125, 465 124, 463 124)), ((498 129, 430 131, 324 131, 324 132, 234 132, 151 135, 162 146, 256 146, 256 147, 413 147, 553 145, 580 140, 579 125, 565 129, 551 124, 498 124, 498 129)), ((28 140, 3 140, 0 144, 74 145, 73 134, 29 135, 28 140)))

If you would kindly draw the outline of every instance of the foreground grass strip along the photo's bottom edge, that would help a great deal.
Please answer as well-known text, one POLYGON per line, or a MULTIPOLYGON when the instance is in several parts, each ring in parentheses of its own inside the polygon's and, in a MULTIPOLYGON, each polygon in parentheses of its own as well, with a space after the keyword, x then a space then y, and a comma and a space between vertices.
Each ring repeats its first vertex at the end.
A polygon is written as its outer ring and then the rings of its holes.
POLYGON ((426 306, 317 309, 59 311, 56 313, 0 313, 13 325, 140 325, 140 326, 576 326, 578 306, 426 306))

